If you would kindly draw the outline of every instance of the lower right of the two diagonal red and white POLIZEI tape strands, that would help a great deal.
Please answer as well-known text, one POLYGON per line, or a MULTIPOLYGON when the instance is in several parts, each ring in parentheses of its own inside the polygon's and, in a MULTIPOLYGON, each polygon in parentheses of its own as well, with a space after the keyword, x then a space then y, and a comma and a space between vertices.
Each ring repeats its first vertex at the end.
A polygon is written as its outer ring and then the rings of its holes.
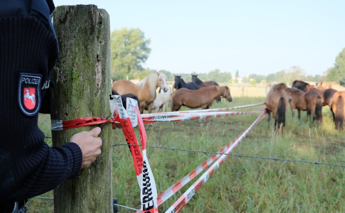
MULTIPOLYGON (((267 112, 263 112, 252 125, 250 125, 246 131, 225 151, 225 154, 231 153, 236 146, 242 141, 242 139, 248 134, 248 132, 261 121, 267 112)), ((216 169, 224 162, 228 155, 221 155, 218 160, 209 168, 207 171, 191 186, 187 191, 166 211, 166 213, 177 213, 179 212, 188 201, 195 195, 195 193, 203 186, 208 178, 214 173, 216 169)))

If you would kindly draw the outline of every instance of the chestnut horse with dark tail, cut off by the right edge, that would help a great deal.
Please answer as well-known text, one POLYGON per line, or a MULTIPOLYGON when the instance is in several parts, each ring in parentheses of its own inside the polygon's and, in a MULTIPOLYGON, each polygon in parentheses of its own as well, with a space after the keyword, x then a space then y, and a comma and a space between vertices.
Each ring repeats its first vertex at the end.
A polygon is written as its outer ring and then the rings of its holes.
POLYGON ((338 91, 333 94, 332 109, 335 117, 335 128, 343 130, 344 124, 344 99, 345 91, 338 91))

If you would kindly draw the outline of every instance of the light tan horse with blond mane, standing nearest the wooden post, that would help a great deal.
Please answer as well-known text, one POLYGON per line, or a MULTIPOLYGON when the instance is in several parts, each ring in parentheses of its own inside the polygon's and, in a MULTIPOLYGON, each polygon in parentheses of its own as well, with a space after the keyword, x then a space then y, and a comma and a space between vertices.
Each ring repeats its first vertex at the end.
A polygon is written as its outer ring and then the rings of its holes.
POLYGON ((135 94, 140 102, 140 113, 144 112, 145 105, 148 106, 148 113, 152 111, 153 102, 156 99, 157 87, 167 91, 167 77, 162 72, 154 72, 147 75, 144 79, 134 84, 128 80, 118 80, 112 83, 112 88, 120 95, 135 94))

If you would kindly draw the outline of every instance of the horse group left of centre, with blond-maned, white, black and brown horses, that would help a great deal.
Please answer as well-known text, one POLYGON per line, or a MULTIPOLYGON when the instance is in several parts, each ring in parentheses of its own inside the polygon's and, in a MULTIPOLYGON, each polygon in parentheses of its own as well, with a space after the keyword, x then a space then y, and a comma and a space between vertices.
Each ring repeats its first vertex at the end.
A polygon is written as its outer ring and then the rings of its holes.
MULTIPOLYGON (((171 111, 178 111, 181 106, 195 109, 208 109, 214 100, 220 97, 232 101, 230 89, 219 86, 215 81, 203 82, 197 75, 192 75, 192 82, 186 83, 181 76, 175 76, 174 91, 170 93, 167 85, 167 77, 162 72, 154 72, 147 75, 138 83, 129 80, 117 80, 112 82, 112 94, 121 95, 122 102, 126 107, 126 97, 134 98, 139 103, 140 113, 144 109, 151 113, 152 109, 161 108, 167 101, 171 101, 171 111), (156 94, 160 87, 163 92, 156 94), (166 93, 166 95, 164 95, 166 93)), ((156 110, 157 111, 157 110, 156 110)))

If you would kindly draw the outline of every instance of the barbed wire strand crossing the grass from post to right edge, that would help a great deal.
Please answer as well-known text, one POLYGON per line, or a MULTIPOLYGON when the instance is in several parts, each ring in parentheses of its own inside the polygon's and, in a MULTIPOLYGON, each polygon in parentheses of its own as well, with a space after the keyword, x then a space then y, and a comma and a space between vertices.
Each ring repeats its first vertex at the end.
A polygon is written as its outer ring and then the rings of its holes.
MULTIPOLYGON (((113 147, 116 146, 141 146, 141 145, 131 145, 131 144, 114 144, 113 147)), ((162 146, 146 146, 149 148, 160 148, 160 149, 169 149, 172 151, 179 150, 179 151, 185 151, 185 152, 192 152, 192 153, 203 153, 203 154, 216 154, 216 155, 229 155, 229 156, 236 156, 236 157, 249 157, 249 158, 257 158, 257 159, 263 159, 263 160, 275 160, 275 161, 286 161, 286 162, 302 162, 307 164, 315 164, 315 165, 329 165, 329 166, 338 166, 338 167, 345 167, 345 165, 339 165, 339 164, 330 164, 330 163, 324 163, 324 162, 312 162, 312 161, 306 161, 306 160, 289 160, 289 159, 281 159, 281 158, 270 158, 270 157, 257 157, 257 156, 251 156, 251 155, 242 155, 242 154, 226 154, 226 153, 214 153, 214 152, 207 152, 207 151, 196 151, 196 150, 188 150, 188 149, 180 149, 180 148, 169 148, 169 147, 162 147, 162 146)))

